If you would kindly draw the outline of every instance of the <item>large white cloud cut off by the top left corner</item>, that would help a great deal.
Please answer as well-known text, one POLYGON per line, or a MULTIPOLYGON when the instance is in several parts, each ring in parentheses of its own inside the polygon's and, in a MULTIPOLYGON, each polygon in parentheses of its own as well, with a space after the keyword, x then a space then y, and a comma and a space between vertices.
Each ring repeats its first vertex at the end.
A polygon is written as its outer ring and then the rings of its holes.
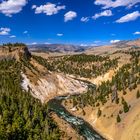
POLYGON ((19 13, 26 3, 27 0, 3 0, 0 3, 0 13, 11 17, 13 14, 19 13))

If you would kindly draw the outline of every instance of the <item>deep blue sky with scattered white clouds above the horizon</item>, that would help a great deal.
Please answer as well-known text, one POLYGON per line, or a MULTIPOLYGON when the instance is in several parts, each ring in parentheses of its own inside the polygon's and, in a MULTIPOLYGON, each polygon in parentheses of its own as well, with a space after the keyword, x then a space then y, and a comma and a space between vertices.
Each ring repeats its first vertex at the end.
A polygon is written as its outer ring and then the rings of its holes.
POLYGON ((140 0, 0 0, 0 19, 0 44, 107 44, 140 37, 140 0))

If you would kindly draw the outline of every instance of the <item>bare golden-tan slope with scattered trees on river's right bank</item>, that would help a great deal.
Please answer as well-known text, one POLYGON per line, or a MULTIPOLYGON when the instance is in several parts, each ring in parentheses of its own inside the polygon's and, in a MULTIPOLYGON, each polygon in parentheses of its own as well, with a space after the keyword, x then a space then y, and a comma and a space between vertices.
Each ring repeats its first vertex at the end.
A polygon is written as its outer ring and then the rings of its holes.
POLYGON ((136 98, 138 89, 140 89, 140 86, 132 91, 127 89, 126 95, 119 92, 119 97, 123 97, 131 106, 129 112, 120 114, 121 122, 119 123, 117 123, 117 115, 120 110, 123 111, 123 107, 121 103, 112 103, 111 98, 105 105, 94 108, 87 106, 83 109, 77 109, 73 107, 69 100, 67 102, 63 101, 62 104, 71 114, 87 121, 94 130, 108 140, 140 140, 140 98, 136 98), (97 116, 98 108, 102 111, 100 117, 97 116))

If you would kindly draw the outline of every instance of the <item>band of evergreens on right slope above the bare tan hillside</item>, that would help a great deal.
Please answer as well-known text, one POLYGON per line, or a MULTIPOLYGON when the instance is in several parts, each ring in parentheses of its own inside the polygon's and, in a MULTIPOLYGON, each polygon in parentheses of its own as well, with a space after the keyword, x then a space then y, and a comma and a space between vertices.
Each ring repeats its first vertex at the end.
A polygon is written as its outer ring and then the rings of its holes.
MULTIPOLYGON (((121 121, 121 114, 123 112, 127 113, 131 108, 129 103, 127 103, 123 97, 119 97, 119 92, 122 92, 125 96, 128 94, 126 92, 127 89, 131 93, 131 91, 140 85, 140 51, 133 50, 122 53, 131 55, 130 63, 124 64, 120 67, 112 77, 111 81, 108 80, 106 82, 102 82, 96 89, 89 88, 87 93, 73 96, 69 99, 69 102, 73 104, 73 107, 83 110, 83 115, 85 115, 84 107, 91 106, 92 108, 99 108, 97 116, 100 117, 103 114, 100 110, 100 105, 106 104, 109 98, 111 98, 112 102, 118 104, 118 106, 122 106, 122 109, 118 112, 118 116, 116 118, 117 122, 121 121)), ((135 95, 136 98, 140 98, 139 89, 135 95)), ((68 101, 65 101, 65 104, 67 104, 67 102, 68 101)))

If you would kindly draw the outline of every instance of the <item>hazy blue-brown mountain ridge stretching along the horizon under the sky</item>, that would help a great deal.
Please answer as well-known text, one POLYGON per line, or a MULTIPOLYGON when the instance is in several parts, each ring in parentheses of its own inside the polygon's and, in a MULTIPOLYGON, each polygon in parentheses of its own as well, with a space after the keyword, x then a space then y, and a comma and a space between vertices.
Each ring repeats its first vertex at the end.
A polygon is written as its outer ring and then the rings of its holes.
POLYGON ((135 40, 122 40, 117 43, 104 45, 104 46, 80 46, 71 44, 34 44, 28 45, 28 48, 32 52, 58 52, 58 53, 70 53, 70 52, 85 52, 101 47, 109 46, 117 49, 129 49, 132 47, 140 47, 140 39, 135 40))

